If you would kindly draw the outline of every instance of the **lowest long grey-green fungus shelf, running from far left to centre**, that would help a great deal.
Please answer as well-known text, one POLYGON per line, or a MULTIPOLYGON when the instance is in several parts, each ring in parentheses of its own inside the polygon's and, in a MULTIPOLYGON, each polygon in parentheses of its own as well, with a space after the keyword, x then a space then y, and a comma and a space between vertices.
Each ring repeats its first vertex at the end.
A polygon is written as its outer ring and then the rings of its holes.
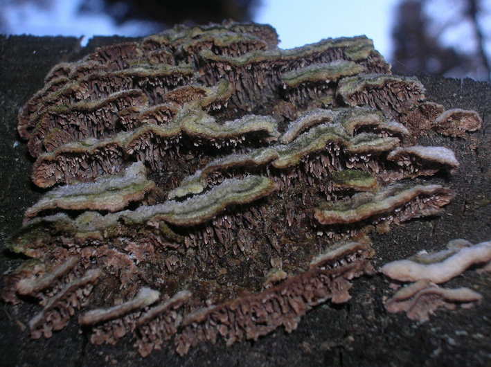
MULTIPOLYGON (((135 227, 151 233, 155 228, 160 230, 162 223, 185 227, 203 224, 209 222, 226 208, 249 204, 277 189, 276 183, 266 177, 248 176, 244 179, 226 179, 212 190, 202 195, 190 197, 184 202, 168 201, 152 206, 143 205, 134 211, 125 210, 107 213, 106 215, 86 211, 74 219, 62 213, 37 217, 26 221, 25 231, 19 233, 17 241, 11 244, 11 249, 28 256, 35 256, 39 252, 39 248, 33 245, 31 239, 37 238, 39 235, 42 235, 46 242, 54 242, 57 246, 69 247, 70 249, 85 247, 88 243, 95 242, 99 244, 99 247, 97 250, 89 252, 89 256, 102 256, 102 261, 106 266, 116 267, 116 273, 119 269, 126 268, 120 274, 121 287, 124 287, 126 283, 132 280, 133 276, 136 276, 138 270, 125 253, 101 246, 105 241, 117 238, 119 235, 125 235, 127 238, 136 240, 141 232, 134 233, 132 229, 135 227), (61 233, 64 235, 60 238, 61 233)), ((164 232, 158 231, 157 233, 164 232)), ((170 240, 176 240, 179 237, 170 229, 166 236, 170 240)), ((45 243, 40 244, 40 246, 44 247, 45 243)), ((157 243, 162 245, 161 240, 157 243)))

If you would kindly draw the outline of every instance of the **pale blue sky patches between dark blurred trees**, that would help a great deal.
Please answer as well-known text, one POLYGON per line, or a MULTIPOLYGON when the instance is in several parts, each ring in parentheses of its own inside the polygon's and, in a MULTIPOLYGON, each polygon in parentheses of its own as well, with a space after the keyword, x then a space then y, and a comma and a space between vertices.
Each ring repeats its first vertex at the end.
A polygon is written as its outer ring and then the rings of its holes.
MULTIPOLYGON (((9 6, 12 2, 6 1, 2 7, 11 34, 83 35, 83 45, 93 35, 145 33, 143 24, 137 22, 118 27, 111 18, 102 15, 75 17, 80 0, 52 0, 53 6, 48 10, 30 3, 9 6)), ((382 55, 389 57, 395 3, 397 0, 262 0, 254 21, 274 26, 281 48, 303 46, 328 37, 364 34, 373 39, 382 55)))

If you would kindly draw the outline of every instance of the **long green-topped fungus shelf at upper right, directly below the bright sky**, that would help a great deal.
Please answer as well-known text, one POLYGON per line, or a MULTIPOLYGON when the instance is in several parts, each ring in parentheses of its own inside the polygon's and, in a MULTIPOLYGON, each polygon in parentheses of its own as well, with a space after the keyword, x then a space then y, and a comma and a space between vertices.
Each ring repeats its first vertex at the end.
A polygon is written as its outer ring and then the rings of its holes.
POLYGON ((340 60, 356 62, 372 73, 387 72, 389 66, 373 49, 373 43, 364 36, 353 38, 323 39, 312 46, 281 51, 279 48, 251 51, 243 55, 216 55, 209 49, 199 54, 203 59, 206 82, 214 83, 219 75, 229 75, 238 92, 231 98, 233 105, 244 109, 247 101, 267 102, 274 95, 276 85, 286 70, 316 63, 340 60), (249 71, 250 70, 250 71, 249 71), (252 76, 253 75, 253 76, 252 76))

